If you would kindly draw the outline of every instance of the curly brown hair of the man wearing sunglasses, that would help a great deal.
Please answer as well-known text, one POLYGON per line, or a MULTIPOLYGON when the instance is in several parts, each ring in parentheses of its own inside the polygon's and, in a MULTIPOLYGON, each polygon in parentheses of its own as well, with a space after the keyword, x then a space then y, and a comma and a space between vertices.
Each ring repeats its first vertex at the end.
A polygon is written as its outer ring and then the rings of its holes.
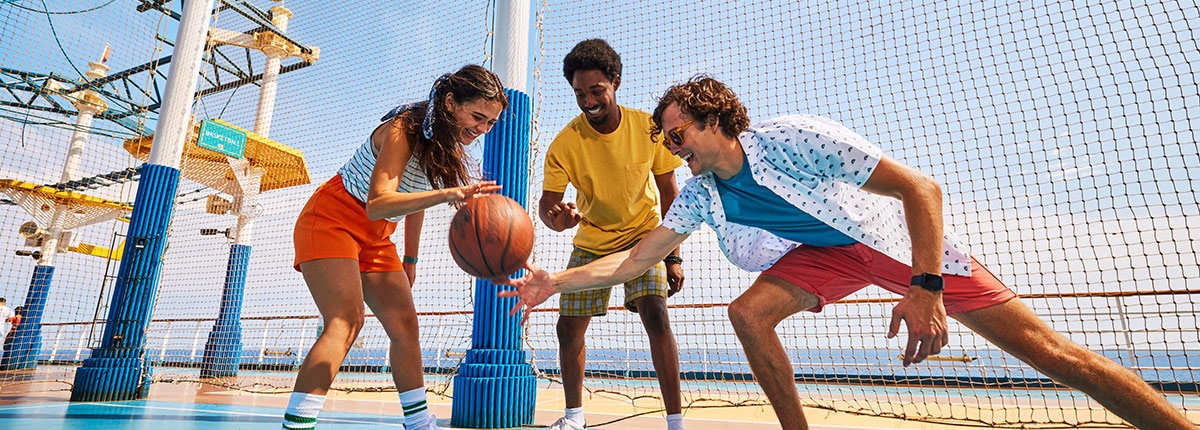
POLYGON ((678 104, 679 111, 683 111, 685 115, 698 120, 696 125, 700 130, 719 123, 721 135, 737 138, 750 127, 746 107, 742 104, 733 90, 730 90, 720 80, 700 74, 685 83, 671 85, 667 92, 659 98, 659 106, 654 108, 654 114, 650 117, 654 123, 650 125, 650 136, 662 136, 662 112, 671 103, 678 104))

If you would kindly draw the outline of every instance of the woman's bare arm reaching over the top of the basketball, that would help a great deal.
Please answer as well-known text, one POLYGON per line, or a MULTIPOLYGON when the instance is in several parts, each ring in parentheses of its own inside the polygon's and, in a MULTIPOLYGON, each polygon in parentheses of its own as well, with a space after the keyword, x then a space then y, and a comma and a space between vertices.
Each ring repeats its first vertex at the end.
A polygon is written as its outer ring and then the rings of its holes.
POLYGON ((371 173, 371 189, 366 202, 367 217, 380 220, 408 215, 442 203, 461 202, 475 193, 499 191, 500 187, 494 181, 422 192, 396 191, 400 187, 400 179, 404 177, 404 166, 413 156, 402 121, 398 118, 392 119, 371 135, 371 142, 379 149, 379 154, 371 173))

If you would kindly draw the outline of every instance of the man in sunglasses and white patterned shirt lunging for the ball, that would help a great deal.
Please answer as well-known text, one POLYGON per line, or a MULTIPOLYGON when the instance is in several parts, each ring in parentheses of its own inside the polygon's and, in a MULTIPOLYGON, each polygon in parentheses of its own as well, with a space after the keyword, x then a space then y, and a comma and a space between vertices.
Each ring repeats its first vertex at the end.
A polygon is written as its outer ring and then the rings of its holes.
POLYGON ((943 232, 941 186, 845 126, 792 115, 751 127, 737 96, 708 77, 668 89, 653 120, 655 131, 666 131, 664 144, 696 175, 662 226, 631 250, 582 268, 550 274, 529 264, 529 275, 510 282, 517 288, 502 293, 521 298, 514 311, 554 293, 632 277, 708 223, 731 262, 762 270, 728 313, 786 429, 808 423, 775 326, 868 285, 904 295, 888 338, 899 334, 901 322, 907 326, 906 366, 949 342, 949 313, 1140 429, 1194 428, 1134 372, 1038 319, 943 232))

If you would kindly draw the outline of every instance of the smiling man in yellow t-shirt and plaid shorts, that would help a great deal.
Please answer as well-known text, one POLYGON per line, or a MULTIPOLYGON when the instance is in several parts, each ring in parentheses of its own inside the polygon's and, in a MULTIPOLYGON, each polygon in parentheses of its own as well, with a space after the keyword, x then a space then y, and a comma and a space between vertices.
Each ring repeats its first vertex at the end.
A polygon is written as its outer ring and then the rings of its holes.
MULTIPOLYGON (((563 59, 563 73, 583 113, 546 151, 538 215, 558 232, 580 227, 569 268, 632 247, 659 226, 661 214, 679 193, 674 169, 683 161, 650 139, 648 113, 617 104, 620 68, 620 56, 598 38, 580 42, 563 59), (578 205, 563 202, 568 185, 575 187, 578 205)), ((677 249, 664 263, 625 282, 625 307, 641 316, 649 338, 668 430, 683 429, 679 350, 666 305, 666 298, 683 287, 682 263, 677 249)), ((563 294, 559 300, 557 332, 566 414, 550 429, 583 429, 584 334, 593 316, 607 313, 612 288, 592 289, 563 294)))

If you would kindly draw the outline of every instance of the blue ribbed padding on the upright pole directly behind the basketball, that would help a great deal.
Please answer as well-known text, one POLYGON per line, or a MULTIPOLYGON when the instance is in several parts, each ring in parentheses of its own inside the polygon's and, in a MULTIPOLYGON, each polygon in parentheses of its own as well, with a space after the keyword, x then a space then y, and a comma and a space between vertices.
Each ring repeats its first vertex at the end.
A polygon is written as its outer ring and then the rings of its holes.
MULTIPOLYGON (((484 138, 484 175, 504 186, 502 195, 528 207, 529 96, 511 89, 505 92, 509 108, 484 138)), ((450 424, 456 428, 500 429, 533 423, 536 377, 528 354, 521 350, 521 315, 509 316, 516 299, 496 297, 499 288, 475 280, 472 348, 454 377, 450 424)))

